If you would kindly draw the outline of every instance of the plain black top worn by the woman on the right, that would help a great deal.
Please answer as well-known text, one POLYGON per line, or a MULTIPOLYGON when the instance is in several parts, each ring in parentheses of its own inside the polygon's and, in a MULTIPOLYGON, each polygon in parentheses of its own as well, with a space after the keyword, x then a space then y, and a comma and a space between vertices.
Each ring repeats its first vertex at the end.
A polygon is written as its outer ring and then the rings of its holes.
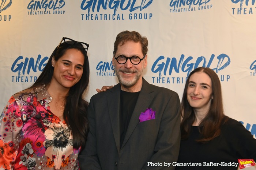
POLYGON ((192 126, 188 139, 181 141, 178 163, 202 163, 202 166, 176 166, 176 170, 237 170, 239 164, 225 166, 222 162, 238 163, 238 159, 256 161, 256 139, 237 120, 229 118, 221 126, 221 134, 206 144, 196 142, 199 137, 198 127, 192 126), (211 162, 218 166, 206 166, 211 162))

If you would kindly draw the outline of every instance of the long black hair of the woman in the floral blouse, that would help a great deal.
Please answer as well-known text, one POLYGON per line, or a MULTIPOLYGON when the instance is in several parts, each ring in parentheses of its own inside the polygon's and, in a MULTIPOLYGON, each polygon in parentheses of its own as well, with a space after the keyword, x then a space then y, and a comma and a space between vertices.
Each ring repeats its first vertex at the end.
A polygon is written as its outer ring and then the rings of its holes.
POLYGON ((56 47, 50 56, 44 70, 30 88, 39 87, 42 84, 47 87, 47 85, 50 84, 54 69, 52 67, 52 58, 54 57, 56 61, 59 60, 68 49, 77 49, 82 52, 84 56, 84 68, 82 77, 78 83, 69 89, 69 93, 66 98, 65 109, 63 112, 63 118, 73 136, 73 147, 78 149, 80 146, 82 146, 82 148, 84 147, 89 130, 89 123, 87 119, 88 102, 83 99, 83 93, 86 91, 89 84, 90 69, 88 56, 82 44, 61 43, 59 48, 56 47))

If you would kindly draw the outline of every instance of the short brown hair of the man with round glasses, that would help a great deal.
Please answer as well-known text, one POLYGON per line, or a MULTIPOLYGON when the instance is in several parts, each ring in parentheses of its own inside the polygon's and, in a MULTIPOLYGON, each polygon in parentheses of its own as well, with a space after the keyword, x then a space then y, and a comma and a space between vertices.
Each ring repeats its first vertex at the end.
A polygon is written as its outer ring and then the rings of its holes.
POLYGON ((147 37, 142 37, 139 32, 136 31, 122 31, 117 34, 116 41, 114 42, 114 51, 117 51, 118 45, 122 46, 126 41, 140 42, 142 46, 142 54, 145 55, 148 51, 147 37))

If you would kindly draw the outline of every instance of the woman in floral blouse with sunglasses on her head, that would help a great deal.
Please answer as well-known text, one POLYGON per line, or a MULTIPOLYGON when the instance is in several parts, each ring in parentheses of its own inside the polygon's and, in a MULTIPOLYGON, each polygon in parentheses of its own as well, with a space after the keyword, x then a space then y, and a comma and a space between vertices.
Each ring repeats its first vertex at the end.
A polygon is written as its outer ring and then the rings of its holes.
POLYGON ((89 129, 88 47, 63 37, 37 81, 11 96, 0 115, 0 169, 79 169, 89 129))

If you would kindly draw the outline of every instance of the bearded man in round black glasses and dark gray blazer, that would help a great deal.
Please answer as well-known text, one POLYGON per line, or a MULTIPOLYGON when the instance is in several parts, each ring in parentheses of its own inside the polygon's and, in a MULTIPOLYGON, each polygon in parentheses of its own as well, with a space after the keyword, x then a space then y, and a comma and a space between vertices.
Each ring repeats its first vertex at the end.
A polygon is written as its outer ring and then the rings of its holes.
POLYGON ((175 168, 171 164, 180 147, 180 99, 142 77, 147 46, 147 38, 138 32, 117 35, 112 63, 120 83, 90 100, 81 170, 175 168))

